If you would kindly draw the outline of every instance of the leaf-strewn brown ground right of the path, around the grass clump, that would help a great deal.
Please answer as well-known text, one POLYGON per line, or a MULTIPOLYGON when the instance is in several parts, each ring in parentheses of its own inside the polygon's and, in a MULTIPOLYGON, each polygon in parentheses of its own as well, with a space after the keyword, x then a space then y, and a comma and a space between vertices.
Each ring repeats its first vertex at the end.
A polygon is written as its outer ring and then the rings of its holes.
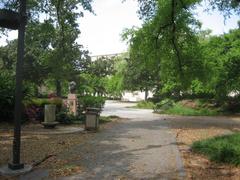
POLYGON ((168 117, 167 123, 176 133, 186 179, 238 180, 240 167, 216 164, 193 153, 192 142, 214 136, 240 132, 240 117, 168 117))

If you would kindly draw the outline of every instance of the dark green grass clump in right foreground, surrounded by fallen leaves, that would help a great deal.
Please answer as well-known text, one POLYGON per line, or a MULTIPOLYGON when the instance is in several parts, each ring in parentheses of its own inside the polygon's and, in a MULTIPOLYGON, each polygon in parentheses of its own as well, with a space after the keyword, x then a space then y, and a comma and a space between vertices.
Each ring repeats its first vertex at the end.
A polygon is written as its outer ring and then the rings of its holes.
POLYGON ((211 161, 240 165, 240 133, 197 141, 193 152, 207 156, 211 161))

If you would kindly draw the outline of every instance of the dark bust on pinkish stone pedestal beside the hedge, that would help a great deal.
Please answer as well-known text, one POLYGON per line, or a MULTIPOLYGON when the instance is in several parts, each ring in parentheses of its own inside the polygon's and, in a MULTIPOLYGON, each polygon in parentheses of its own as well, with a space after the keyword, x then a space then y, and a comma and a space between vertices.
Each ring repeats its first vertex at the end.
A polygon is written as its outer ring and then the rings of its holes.
POLYGON ((69 83, 69 94, 67 99, 67 106, 69 109, 69 113, 77 116, 77 105, 78 99, 76 92, 76 83, 74 81, 69 83))

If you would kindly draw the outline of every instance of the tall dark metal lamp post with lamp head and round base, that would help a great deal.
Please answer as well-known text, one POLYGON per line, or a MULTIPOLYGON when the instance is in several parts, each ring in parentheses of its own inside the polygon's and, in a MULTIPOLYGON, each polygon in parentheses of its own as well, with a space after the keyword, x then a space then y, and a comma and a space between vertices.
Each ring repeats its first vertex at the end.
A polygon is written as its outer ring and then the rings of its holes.
POLYGON ((12 162, 7 167, 1 168, 3 175, 16 175, 31 170, 30 166, 20 163, 21 147, 21 113, 22 113, 22 79, 24 59, 24 37, 27 23, 26 0, 20 0, 19 12, 0 10, 0 26, 8 29, 18 29, 18 49, 16 65, 16 89, 14 107, 14 139, 12 162))

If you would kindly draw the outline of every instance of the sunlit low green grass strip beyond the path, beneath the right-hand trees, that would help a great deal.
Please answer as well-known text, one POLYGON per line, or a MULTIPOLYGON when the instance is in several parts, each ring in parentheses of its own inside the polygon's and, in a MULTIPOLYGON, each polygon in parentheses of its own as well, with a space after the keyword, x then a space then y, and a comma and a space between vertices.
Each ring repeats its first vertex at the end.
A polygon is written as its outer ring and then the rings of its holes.
POLYGON ((185 107, 179 103, 174 104, 169 109, 163 110, 163 114, 173 114, 173 115, 183 115, 183 116, 214 116, 219 115, 217 110, 212 110, 208 108, 197 108, 193 109, 190 107, 185 107))

